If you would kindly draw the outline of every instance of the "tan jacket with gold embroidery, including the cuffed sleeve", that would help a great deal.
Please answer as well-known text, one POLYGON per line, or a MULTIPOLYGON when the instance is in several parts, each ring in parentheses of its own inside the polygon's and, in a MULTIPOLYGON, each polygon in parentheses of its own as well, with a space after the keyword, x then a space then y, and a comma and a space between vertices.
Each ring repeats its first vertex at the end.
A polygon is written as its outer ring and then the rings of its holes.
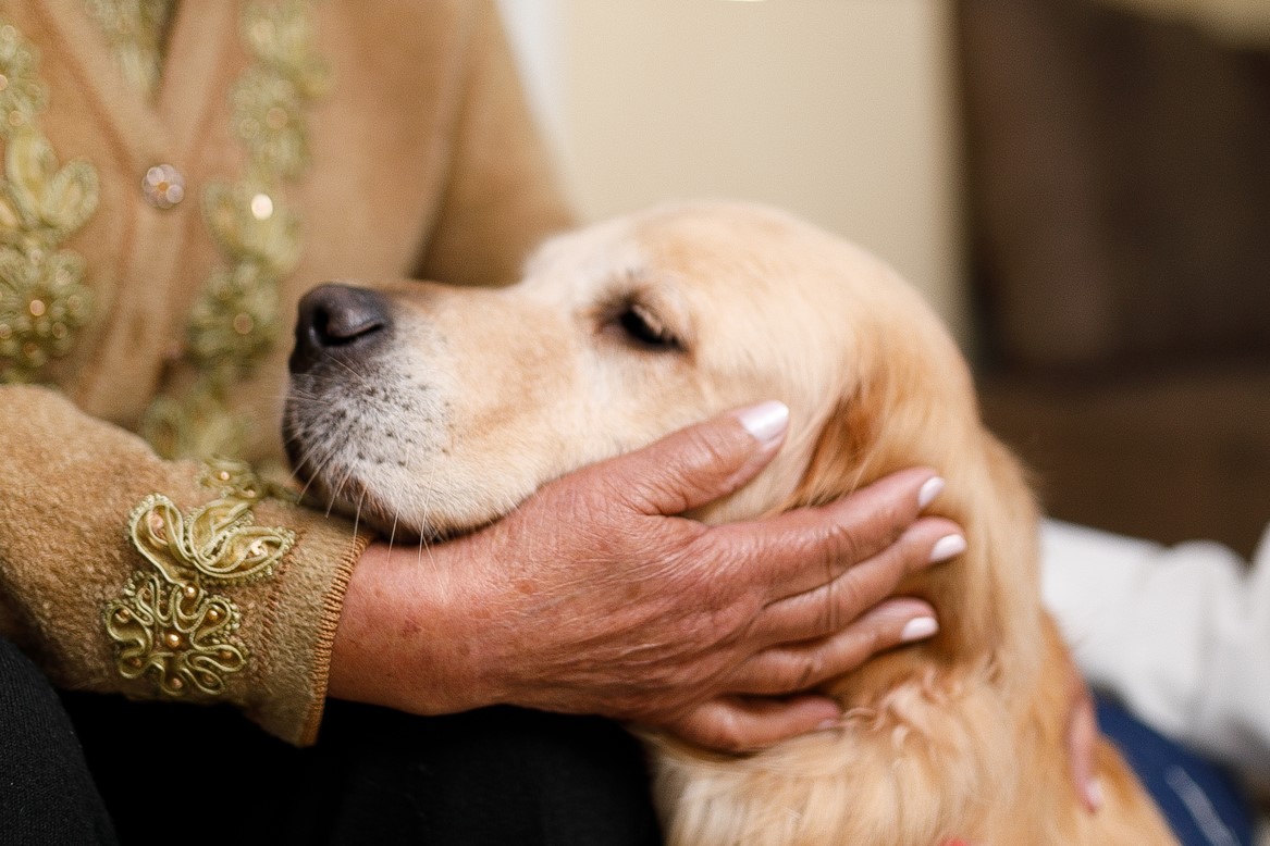
POLYGON ((306 289, 508 282, 570 216, 488 1, 187 1, 166 44, 149 100, 84 0, 0 0, 0 381, 52 386, 0 387, 0 634, 306 743, 367 539, 131 433, 281 459, 306 289))

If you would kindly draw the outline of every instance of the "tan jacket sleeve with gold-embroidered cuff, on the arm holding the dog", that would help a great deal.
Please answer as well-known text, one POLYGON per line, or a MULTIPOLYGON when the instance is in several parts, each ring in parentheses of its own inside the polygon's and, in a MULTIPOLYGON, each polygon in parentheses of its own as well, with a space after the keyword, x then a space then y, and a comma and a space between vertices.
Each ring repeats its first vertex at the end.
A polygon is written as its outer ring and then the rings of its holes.
POLYGON ((315 739, 367 537, 43 388, 0 387, 0 634, 56 685, 232 703, 315 739))

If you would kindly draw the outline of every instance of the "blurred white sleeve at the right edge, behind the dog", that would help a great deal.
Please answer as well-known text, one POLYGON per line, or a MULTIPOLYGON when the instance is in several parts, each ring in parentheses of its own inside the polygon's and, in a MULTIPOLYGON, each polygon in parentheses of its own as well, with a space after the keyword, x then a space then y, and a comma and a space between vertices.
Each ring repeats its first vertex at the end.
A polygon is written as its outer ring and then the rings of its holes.
POLYGON ((1215 543, 1170 548, 1046 521, 1041 562, 1045 605, 1090 684, 1270 779, 1270 528, 1250 568, 1215 543))

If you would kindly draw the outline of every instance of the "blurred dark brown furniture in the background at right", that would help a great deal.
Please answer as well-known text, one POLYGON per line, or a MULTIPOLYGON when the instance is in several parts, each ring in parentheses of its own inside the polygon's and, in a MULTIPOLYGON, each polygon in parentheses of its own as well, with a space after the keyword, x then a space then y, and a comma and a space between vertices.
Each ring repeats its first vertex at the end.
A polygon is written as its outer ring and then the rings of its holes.
POLYGON ((1270 43, 959 0, 989 424, 1049 512, 1248 553, 1270 523, 1270 43))

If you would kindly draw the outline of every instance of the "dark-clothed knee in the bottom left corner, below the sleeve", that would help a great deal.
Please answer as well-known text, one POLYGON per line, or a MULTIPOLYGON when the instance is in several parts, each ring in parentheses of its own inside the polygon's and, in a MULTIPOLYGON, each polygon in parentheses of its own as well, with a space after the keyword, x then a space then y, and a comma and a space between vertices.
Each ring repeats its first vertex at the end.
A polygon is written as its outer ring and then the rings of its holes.
POLYGON ((79 739, 39 670, 0 638, 0 845, 113 843, 79 739))

